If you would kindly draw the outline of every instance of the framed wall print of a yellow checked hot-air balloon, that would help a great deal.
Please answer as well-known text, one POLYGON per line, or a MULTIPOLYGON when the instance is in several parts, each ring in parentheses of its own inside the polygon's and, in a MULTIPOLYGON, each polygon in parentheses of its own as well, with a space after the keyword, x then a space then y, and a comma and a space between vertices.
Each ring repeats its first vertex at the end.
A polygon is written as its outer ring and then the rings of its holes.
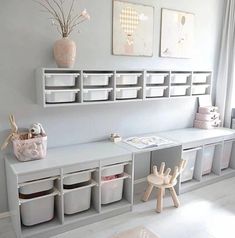
POLYGON ((153 55, 154 8, 113 1, 113 54, 153 55))

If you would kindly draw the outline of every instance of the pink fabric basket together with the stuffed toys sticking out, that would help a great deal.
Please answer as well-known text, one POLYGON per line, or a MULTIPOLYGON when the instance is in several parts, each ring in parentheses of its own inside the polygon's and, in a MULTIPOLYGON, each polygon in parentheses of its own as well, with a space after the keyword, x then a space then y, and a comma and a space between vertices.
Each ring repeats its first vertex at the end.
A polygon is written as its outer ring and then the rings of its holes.
POLYGON ((19 132, 13 115, 9 116, 11 133, 2 144, 5 149, 9 142, 13 144, 13 152, 19 161, 30 161, 46 157, 47 136, 40 123, 34 123, 28 132, 19 132))

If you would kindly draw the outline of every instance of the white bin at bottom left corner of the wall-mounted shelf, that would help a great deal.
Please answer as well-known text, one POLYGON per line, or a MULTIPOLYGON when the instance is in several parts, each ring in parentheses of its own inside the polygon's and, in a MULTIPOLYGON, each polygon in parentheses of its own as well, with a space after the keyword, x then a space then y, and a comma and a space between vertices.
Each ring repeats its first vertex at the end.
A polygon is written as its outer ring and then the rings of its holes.
POLYGON ((46 90, 46 103, 75 102, 79 89, 74 90, 46 90))

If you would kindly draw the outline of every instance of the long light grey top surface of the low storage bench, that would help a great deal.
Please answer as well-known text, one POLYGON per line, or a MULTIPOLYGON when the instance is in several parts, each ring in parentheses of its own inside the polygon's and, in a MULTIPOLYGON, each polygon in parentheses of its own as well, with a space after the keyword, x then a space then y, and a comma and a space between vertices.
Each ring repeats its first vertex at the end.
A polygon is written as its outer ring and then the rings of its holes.
POLYGON ((191 142, 204 141, 212 138, 234 139, 235 130, 218 128, 203 130, 197 128, 185 128, 160 133, 151 133, 142 136, 160 136, 172 140, 171 144, 159 147, 151 147, 144 150, 137 149, 125 142, 113 143, 110 141, 92 142, 58 148, 51 148, 47 151, 47 158, 30 162, 19 162, 12 155, 7 155, 6 160, 14 170, 15 174, 32 173, 54 168, 62 168, 79 163, 100 161, 114 157, 131 156, 132 153, 142 153, 159 149, 166 149, 173 146, 180 146, 191 142))

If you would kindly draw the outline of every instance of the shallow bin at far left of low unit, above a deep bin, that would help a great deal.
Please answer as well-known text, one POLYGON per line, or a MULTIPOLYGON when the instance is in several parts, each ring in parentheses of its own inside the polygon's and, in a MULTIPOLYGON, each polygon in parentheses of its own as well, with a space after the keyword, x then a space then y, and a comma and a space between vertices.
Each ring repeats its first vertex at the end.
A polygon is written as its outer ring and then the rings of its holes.
POLYGON ((54 186, 54 180, 38 181, 29 183, 19 188, 19 193, 27 195, 32 193, 38 193, 41 191, 48 191, 54 186))

